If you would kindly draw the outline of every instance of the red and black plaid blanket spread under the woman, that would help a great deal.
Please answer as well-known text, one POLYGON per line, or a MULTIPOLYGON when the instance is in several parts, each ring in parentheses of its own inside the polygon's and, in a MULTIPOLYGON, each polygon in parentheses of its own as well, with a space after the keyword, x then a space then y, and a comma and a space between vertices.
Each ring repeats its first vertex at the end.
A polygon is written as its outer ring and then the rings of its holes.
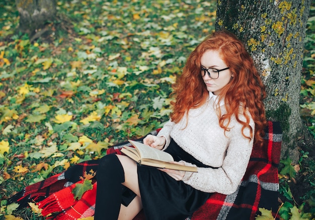
MULTIPOLYGON (((156 134, 159 130, 152 132, 156 134)), ((255 219, 259 208, 272 210, 276 216, 278 209, 278 164, 282 131, 278 122, 268 122, 263 147, 255 146, 250 162, 237 191, 230 195, 213 193, 193 216, 187 220, 203 219, 255 219)), ((136 141, 142 141, 138 139, 136 141)), ((120 149, 128 142, 120 143, 107 150, 107 154, 122 154, 120 149)), ((129 145, 130 146, 130 145, 129 145)), ((17 202, 19 208, 35 201, 42 214, 53 219, 78 219, 93 216, 96 198, 96 178, 92 179, 93 189, 86 191, 80 200, 74 200, 72 189, 75 183, 81 183, 81 176, 91 170, 97 171, 98 160, 85 161, 74 165, 65 172, 51 176, 41 182, 25 187, 9 199, 17 202)), ((134 220, 142 220, 140 212, 134 220)))

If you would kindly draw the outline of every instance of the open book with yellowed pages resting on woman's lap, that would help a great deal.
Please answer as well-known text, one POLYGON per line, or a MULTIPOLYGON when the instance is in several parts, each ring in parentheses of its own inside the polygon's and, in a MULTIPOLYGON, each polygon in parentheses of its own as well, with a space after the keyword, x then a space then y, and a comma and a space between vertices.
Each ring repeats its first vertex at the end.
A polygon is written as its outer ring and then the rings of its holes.
POLYGON ((128 140, 135 148, 124 146, 121 152, 141 165, 172 170, 198 172, 197 167, 170 163, 174 161, 171 154, 157 150, 140 142, 128 140))

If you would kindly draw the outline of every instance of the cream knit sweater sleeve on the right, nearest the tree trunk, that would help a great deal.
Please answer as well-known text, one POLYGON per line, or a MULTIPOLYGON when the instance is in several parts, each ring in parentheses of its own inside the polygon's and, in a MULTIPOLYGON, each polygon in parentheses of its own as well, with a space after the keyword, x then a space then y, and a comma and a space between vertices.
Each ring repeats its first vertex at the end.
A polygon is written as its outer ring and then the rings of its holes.
MULTIPOLYGON (((254 122, 251 122, 254 130, 254 122)), ((249 137, 249 129, 245 129, 249 137)), ((204 192, 218 192, 231 194, 237 190, 247 169, 253 149, 253 138, 249 140, 242 135, 242 125, 236 123, 230 132, 230 139, 222 166, 215 168, 200 168, 198 172, 187 173, 183 181, 192 187, 204 192)), ((186 165, 190 165, 186 162, 186 165)))

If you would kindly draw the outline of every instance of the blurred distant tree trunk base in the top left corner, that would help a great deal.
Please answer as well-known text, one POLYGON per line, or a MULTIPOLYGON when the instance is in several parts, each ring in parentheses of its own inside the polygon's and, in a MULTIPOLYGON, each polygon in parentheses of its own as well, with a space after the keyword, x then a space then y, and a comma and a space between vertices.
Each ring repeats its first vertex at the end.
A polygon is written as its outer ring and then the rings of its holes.
POLYGON ((20 15, 19 31, 29 34, 30 38, 47 22, 55 20, 55 0, 16 0, 16 5, 20 15))

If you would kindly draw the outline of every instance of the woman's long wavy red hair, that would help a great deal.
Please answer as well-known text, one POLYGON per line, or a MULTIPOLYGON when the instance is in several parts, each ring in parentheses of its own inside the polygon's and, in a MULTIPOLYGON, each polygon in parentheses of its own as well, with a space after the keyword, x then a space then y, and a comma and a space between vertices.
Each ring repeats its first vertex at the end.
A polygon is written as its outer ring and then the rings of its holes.
POLYGON ((219 125, 224 131, 229 131, 229 122, 234 116, 243 125, 242 134, 249 140, 263 144, 264 128, 267 125, 263 99, 266 97, 265 86, 254 66, 254 62, 246 51, 244 44, 228 31, 217 31, 205 38, 190 54, 181 76, 173 85, 175 98, 171 102, 173 112, 171 120, 178 123, 185 112, 205 103, 209 92, 201 76, 200 59, 207 50, 217 51, 220 58, 229 67, 233 75, 230 82, 219 94, 219 102, 224 99, 226 113, 221 114, 218 106, 219 125), (255 122, 255 134, 249 125, 250 116, 255 122), (244 115, 246 122, 240 120, 244 115), (244 130, 250 130, 250 137, 244 135, 244 130))

